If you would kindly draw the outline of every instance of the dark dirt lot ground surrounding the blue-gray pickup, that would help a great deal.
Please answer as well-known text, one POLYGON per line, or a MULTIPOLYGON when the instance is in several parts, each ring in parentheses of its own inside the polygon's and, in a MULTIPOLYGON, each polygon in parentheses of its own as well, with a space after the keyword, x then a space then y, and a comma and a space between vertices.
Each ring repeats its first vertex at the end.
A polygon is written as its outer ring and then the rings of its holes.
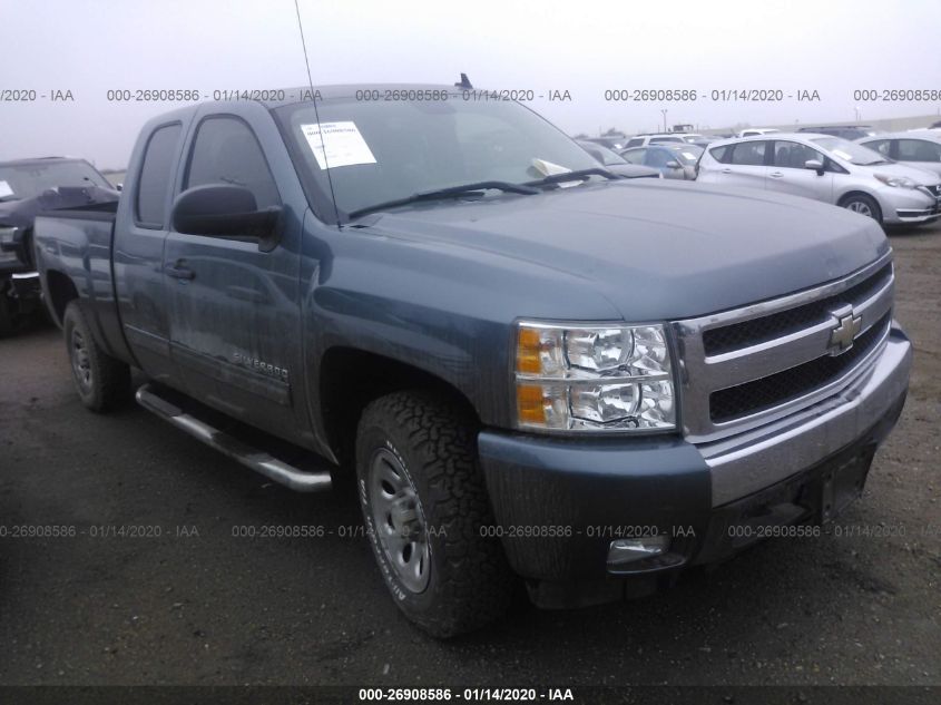
POLYGON ((840 519, 861 536, 766 542, 634 603, 520 604, 450 643, 339 536, 351 497, 272 486, 135 405, 85 411, 51 327, 0 340, 0 684, 941 684, 941 225, 892 243, 915 366, 840 519), (160 535, 94 536, 118 525, 160 535), (233 536, 266 525, 334 532, 233 536))

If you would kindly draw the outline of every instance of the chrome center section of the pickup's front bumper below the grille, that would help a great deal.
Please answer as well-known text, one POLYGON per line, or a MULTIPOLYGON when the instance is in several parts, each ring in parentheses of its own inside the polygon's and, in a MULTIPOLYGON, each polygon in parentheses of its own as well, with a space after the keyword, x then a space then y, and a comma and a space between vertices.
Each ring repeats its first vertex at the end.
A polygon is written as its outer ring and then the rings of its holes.
POLYGON ((874 425, 908 389, 911 347, 893 322, 881 352, 833 396, 758 429, 698 445, 712 474, 713 507, 814 466, 874 425))

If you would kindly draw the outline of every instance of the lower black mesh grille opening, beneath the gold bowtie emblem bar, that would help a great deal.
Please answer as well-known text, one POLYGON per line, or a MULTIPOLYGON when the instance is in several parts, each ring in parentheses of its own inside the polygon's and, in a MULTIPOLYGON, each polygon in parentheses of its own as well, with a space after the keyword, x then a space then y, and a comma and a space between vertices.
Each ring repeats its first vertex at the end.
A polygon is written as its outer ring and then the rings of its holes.
POLYGON ((890 322, 891 313, 882 316, 842 355, 823 355, 790 370, 713 392, 709 395, 713 422, 722 423, 777 407, 839 379, 872 351, 890 322))

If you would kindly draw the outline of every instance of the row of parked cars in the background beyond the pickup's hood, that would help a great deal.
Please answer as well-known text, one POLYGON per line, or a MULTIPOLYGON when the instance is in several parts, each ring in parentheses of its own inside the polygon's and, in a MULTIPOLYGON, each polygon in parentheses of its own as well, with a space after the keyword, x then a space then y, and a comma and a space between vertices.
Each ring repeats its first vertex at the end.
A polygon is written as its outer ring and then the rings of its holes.
POLYGON ((579 144, 609 169, 635 178, 658 176, 804 196, 888 225, 925 223, 941 215, 938 129, 886 134, 869 126, 794 133, 749 128, 731 139, 667 133, 579 144))

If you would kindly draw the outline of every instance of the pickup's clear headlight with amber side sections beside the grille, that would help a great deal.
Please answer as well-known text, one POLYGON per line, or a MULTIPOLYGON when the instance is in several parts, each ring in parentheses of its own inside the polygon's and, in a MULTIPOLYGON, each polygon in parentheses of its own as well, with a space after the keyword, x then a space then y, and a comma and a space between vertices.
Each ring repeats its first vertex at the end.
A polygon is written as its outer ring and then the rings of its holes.
POLYGON ((517 424, 559 431, 676 428, 663 325, 520 323, 517 424))

